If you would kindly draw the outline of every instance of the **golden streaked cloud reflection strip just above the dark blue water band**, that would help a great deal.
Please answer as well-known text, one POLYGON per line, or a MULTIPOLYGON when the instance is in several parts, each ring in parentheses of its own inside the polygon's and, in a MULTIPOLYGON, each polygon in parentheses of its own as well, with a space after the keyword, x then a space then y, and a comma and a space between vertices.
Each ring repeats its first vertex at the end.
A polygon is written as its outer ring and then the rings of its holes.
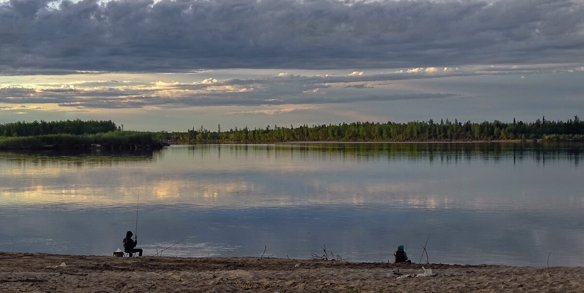
MULTIPOLYGON (((498 208, 532 210, 571 210, 584 206, 584 196, 568 192, 555 201, 545 197, 547 189, 527 185, 519 189, 493 187, 484 189, 474 180, 454 184, 450 180, 411 180, 411 182, 361 182, 345 177, 310 178, 298 184, 281 186, 256 176, 238 180, 192 178, 159 178, 148 180, 142 187, 133 184, 107 186, 83 183, 72 186, 26 186, 26 190, 2 189, 0 203, 48 204, 71 203, 91 205, 133 205, 140 193, 144 204, 190 204, 215 207, 286 207, 304 205, 363 205, 416 207, 429 209, 471 208, 489 210, 498 208)), ((123 181, 123 177, 120 181, 123 181)), ((545 187, 544 187, 545 188, 545 187)))

